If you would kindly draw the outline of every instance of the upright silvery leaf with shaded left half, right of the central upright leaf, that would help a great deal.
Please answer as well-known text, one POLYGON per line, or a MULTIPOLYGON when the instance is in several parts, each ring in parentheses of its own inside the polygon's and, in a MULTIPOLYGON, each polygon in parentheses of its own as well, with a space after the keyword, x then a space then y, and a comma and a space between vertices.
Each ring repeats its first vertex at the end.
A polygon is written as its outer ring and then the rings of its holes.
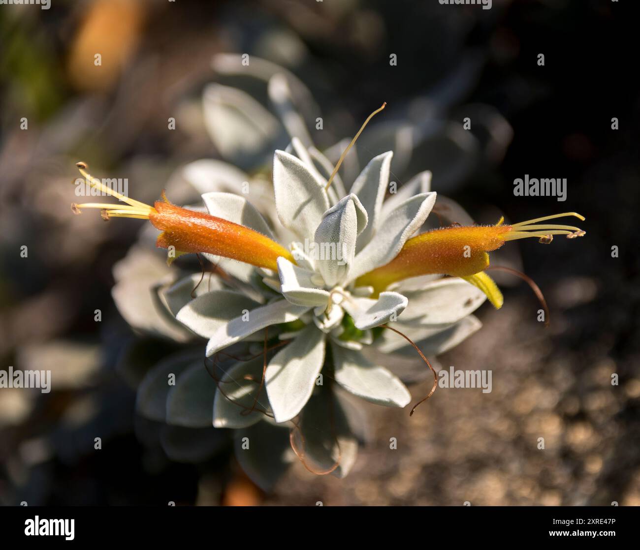
POLYGON ((358 237, 357 251, 362 250, 371 240, 378 229, 378 224, 380 224, 380 211, 382 201, 385 200, 385 193, 387 193, 393 155, 394 153, 389 151, 373 157, 351 187, 351 193, 358 196, 369 216, 367 227, 358 237))

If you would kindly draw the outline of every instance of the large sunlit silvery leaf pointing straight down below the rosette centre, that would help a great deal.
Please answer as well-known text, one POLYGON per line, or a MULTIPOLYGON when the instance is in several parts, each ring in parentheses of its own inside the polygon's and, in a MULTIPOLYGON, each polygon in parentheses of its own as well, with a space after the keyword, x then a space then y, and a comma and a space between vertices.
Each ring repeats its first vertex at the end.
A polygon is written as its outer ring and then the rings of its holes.
POLYGON ((276 422, 291 420, 307 403, 324 363, 324 345, 324 333, 312 324, 269 361, 265 380, 276 422))

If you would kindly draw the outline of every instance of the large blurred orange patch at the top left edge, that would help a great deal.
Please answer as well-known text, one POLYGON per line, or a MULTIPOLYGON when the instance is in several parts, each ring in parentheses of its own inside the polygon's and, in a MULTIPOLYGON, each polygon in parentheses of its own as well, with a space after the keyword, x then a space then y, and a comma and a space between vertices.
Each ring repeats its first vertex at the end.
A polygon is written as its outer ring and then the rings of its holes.
POLYGON ((144 10, 140 0, 95 0, 88 5, 68 57, 75 88, 99 91, 115 84, 138 43, 144 10))

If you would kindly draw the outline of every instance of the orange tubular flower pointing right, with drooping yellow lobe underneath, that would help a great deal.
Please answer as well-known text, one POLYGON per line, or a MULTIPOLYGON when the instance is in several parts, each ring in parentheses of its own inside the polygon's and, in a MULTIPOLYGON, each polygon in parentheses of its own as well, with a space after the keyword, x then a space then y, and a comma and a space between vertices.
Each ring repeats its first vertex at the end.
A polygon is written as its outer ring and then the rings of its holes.
POLYGON ((377 294, 391 283, 402 279, 445 274, 461 277, 482 288, 493 305, 499 308, 502 305, 502 295, 495 283, 483 273, 489 267, 488 252, 500 248, 508 240, 538 237, 540 242, 549 243, 553 240, 553 235, 566 235, 568 239, 582 237, 585 232, 578 227, 537 224, 564 216, 584 220, 576 212, 565 212, 513 225, 503 225, 503 219, 500 219, 497 224, 490 226, 453 226, 422 233, 407 240, 391 262, 358 278, 356 285, 371 286, 377 294))

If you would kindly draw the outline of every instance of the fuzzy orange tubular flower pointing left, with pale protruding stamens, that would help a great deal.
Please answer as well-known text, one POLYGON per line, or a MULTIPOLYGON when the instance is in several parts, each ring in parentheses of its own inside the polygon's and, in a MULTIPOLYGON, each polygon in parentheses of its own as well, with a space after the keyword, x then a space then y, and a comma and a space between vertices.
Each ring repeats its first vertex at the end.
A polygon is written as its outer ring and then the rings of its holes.
POLYGON ((277 260, 280 256, 295 263, 287 249, 262 233, 220 217, 172 205, 164 196, 164 192, 163 200, 156 201, 151 207, 116 193, 103 185, 100 180, 92 178, 86 173, 86 164, 83 162, 78 162, 77 166, 89 185, 127 204, 73 204, 72 210, 76 214, 84 208, 99 208, 104 219, 111 217, 148 219, 162 232, 158 236, 156 245, 159 248, 173 246, 175 257, 186 253, 209 253, 274 271, 278 271, 277 260))

